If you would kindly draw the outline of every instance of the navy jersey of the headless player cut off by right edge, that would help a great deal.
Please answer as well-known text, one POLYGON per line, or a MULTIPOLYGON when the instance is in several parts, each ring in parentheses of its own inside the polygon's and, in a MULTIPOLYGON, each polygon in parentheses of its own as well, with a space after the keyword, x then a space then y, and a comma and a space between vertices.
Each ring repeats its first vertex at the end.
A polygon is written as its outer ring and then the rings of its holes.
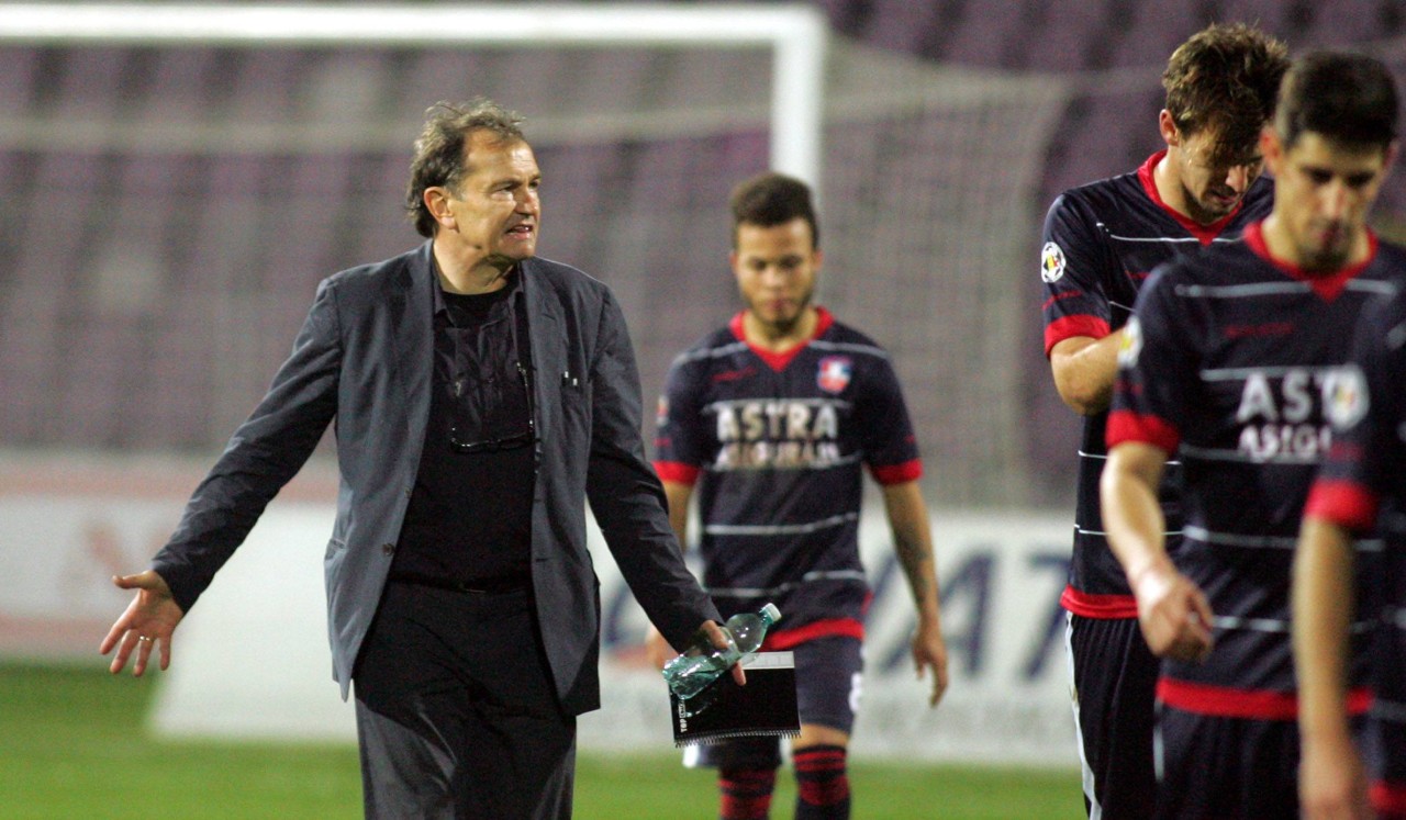
MULTIPOLYGON (((1406 275, 1406 270, 1402 271, 1406 275)), ((1381 621, 1372 644, 1374 800, 1406 812, 1406 293, 1372 306, 1357 326, 1351 364, 1361 379, 1333 423, 1333 447, 1306 515, 1351 529, 1360 552, 1385 542, 1381 621), (1376 534, 1384 541, 1375 541, 1376 534)))

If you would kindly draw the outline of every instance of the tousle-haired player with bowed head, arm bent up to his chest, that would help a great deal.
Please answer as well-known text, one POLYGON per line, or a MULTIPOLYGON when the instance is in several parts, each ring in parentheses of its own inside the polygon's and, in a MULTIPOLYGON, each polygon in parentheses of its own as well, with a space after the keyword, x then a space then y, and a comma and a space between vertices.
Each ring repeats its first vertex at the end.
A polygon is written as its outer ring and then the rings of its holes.
MULTIPOLYGON (((1160 263, 1232 242, 1270 209, 1260 178, 1260 129, 1288 67, 1282 44, 1244 25, 1212 25, 1173 52, 1157 128, 1166 150, 1140 168, 1066 191, 1045 219, 1045 354, 1060 397, 1084 416, 1074 555, 1062 597, 1074 722, 1091 817, 1146 817, 1153 774, 1157 660, 1137 633, 1137 608, 1108 552, 1098 504, 1104 428, 1122 327, 1160 263)), ((1167 470, 1164 515, 1181 529, 1167 470)))

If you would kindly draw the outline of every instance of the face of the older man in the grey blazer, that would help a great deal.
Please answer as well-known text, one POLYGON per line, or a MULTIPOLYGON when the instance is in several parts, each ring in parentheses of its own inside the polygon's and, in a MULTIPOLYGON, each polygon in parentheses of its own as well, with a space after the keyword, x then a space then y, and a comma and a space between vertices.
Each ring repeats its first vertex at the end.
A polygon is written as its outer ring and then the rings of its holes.
POLYGON ((541 171, 531 146, 477 131, 465 140, 464 153, 467 171, 446 190, 457 240, 488 263, 531 257, 541 226, 541 171))

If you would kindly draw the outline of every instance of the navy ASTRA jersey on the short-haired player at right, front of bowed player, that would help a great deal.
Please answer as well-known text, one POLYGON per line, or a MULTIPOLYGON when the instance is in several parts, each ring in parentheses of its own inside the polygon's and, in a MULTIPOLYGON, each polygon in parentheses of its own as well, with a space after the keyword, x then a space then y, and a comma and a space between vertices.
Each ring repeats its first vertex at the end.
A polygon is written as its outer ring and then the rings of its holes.
MULTIPOLYGON (((1299 518, 1331 445, 1329 416, 1358 383, 1346 364, 1357 319, 1396 291, 1403 261, 1374 237, 1367 263, 1310 279, 1270 258, 1256 223, 1243 243, 1160 267, 1139 295, 1108 447, 1146 442, 1181 459, 1185 522, 1174 560, 1215 614, 1209 660, 1164 661, 1163 702, 1296 716, 1289 567, 1299 518)), ((1357 633, 1365 639, 1371 623, 1360 618, 1357 633)))

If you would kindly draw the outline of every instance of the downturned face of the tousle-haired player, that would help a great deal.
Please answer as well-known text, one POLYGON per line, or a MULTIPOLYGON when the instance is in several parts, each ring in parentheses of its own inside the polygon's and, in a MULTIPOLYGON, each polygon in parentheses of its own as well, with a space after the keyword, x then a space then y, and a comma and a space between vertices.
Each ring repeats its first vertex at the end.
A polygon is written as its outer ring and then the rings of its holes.
POLYGON ((1187 216, 1201 225, 1211 225, 1234 211, 1264 173, 1258 145, 1236 150, 1222 145, 1211 131, 1191 136, 1178 132, 1177 139, 1168 142, 1167 153, 1181 184, 1187 216))

